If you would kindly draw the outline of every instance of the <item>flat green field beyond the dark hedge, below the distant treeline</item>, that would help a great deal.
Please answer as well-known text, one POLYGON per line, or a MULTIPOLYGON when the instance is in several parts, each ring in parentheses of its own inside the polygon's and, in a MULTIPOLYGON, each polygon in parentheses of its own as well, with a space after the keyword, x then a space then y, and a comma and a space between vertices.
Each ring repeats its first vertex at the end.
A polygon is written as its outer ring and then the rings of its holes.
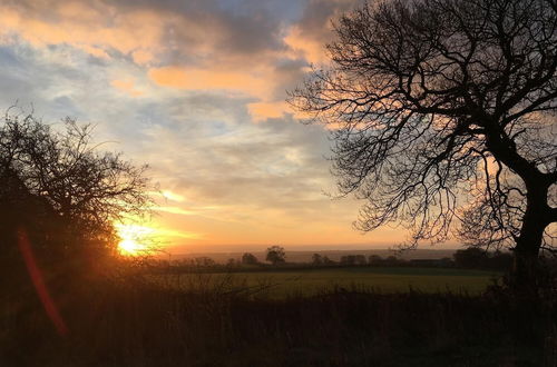
POLYGON ((234 291, 245 289, 257 296, 286 298, 312 296, 336 288, 348 290, 374 290, 379 292, 405 292, 410 289, 422 292, 452 291, 478 295, 500 277, 495 271, 395 268, 395 267, 346 267, 296 270, 245 271, 231 274, 180 274, 157 276, 157 281, 180 289, 234 291))

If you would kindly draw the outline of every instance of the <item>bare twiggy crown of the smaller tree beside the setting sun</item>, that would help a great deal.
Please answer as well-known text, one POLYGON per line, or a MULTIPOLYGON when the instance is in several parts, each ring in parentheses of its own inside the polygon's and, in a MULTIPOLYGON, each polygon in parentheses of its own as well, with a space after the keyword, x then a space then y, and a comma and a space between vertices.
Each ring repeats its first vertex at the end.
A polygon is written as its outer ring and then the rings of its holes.
POLYGON ((32 115, 4 116, 0 177, 12 185, 0 190, 0 211, 13 219, 11 231, 21 226, 37 229, 38 221, 48 220, 40 226, 45 236, 37 246, 51 256, 106 254, 116 247, 115 221, 141 216, 150 206, 146 167, 136 167, 119 153, 99 151, 91 141, 90 125, 67 118, 60 130, 32 115), (46 214, 32 217, 39 211, 46 214))

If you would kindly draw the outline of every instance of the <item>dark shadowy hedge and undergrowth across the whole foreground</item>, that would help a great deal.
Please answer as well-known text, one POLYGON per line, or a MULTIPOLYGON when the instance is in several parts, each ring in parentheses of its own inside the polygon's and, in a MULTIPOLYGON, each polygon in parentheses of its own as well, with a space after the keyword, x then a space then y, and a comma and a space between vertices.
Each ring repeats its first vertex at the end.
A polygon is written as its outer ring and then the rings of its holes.
MULTIPOLYGON (((121 268, 121 267, 120 267, 121 268)), ((225 282, 178 291, 126 270, 2 294, 1 366, 555 366, 556 299, 331 289, 271 300, 225 282)))

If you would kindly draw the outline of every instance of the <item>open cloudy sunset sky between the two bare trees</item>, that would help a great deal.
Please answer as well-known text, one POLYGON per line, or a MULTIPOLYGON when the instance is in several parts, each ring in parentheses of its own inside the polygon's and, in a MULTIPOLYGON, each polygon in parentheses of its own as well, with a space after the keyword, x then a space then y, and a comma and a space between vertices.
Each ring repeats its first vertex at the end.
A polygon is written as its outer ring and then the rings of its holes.
POLYGON ((0 110, 91 122, 104 149, 148 163, 156 215, 137 231, 170 251, 385 248, 408 234, 353 229, 328 131, 285 102, 355 4, 3 0, 0 110))

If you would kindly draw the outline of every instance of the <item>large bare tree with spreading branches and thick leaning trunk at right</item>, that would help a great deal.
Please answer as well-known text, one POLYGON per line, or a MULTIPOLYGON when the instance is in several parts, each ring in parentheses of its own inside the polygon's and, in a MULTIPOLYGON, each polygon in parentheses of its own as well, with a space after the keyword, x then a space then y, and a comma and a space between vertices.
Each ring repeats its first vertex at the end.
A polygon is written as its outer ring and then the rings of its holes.
POLYGON ((381 1, 344 14, 291 103, 330 126, 356 227, 515 250, 534 285, 557 221, 555 0, 381 1))

